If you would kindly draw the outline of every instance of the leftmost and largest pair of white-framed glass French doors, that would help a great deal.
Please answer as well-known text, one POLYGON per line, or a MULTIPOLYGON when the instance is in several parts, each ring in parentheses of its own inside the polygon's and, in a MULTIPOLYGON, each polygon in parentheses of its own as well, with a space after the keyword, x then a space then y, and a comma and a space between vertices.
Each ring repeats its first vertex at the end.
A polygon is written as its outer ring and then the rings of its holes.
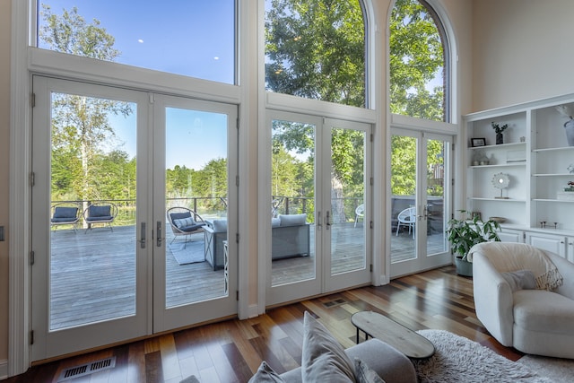
POLYGON ((175 235, 167 213, 236 230, 236 107, 39 76, 33 88, 32 361, 236 313, 236 257, 216 269, 207 230, 175 235))

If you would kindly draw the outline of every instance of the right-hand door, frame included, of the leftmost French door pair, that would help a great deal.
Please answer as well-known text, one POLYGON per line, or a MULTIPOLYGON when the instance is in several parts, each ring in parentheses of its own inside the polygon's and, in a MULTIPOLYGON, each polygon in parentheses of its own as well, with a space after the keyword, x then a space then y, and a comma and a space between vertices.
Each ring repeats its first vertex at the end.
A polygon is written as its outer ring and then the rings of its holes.
POLYGON ((154 332, 237 313, 236 121, 233 105, 155 96, 154 332))

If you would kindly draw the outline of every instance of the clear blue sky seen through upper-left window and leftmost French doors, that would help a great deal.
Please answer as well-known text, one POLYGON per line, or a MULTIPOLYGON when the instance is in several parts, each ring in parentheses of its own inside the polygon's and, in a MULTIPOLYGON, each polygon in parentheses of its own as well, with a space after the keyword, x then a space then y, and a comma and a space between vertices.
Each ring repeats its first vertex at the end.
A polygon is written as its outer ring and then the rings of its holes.
MULTIPOLYGON (((40 0, 60 15, 75 6, 87 23, 100 21, 121 55, 118 63, 233 83, 234 0, 40 0)), ((41 28, 42 21, 39 20, 41 28)), ((40 48, 47 48, 39 43, 40 48)), ((109 116, 119 149, 135 156, 135 107, 128 118, 109 116)), ((167 112, 166 167, 200 170, 227 157, 227 118, 185 109, 167 112)))

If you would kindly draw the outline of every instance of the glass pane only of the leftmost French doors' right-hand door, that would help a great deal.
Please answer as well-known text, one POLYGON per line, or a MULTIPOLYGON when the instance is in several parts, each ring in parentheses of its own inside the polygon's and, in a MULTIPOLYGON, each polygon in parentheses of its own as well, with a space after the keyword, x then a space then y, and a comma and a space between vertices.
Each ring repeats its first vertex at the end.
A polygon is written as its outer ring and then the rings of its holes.
POLYGON ((228 116, 166 108, 166 308, 228 295, 228 116))

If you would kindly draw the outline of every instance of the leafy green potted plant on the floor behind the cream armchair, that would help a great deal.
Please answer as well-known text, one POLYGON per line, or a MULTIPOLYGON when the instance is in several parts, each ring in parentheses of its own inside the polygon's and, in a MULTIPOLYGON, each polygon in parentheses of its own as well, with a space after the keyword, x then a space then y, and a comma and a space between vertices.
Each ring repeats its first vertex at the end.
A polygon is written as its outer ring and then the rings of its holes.
MULTIPOLYGON (((465 210, 460 213, 467 215, 465 210)), ((448 242, 455 255, 455 265, 457 274, 473 276, 473 264, 468 262, 468 250, 477 243, 494 240, 500 242, 497 231, 500 231, 500 223, 489 219, 483 222, 479 214, 474 214, 471 218, 448 221, 448 242)))

